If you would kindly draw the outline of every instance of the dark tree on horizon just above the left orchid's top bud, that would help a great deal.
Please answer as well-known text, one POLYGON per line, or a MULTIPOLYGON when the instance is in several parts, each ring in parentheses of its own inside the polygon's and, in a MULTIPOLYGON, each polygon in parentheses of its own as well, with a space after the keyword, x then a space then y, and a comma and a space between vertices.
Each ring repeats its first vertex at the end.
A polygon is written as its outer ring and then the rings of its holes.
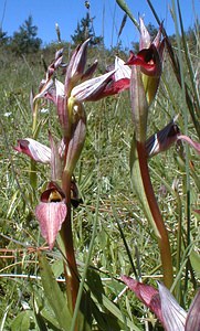
POLYGON ((73 35, 71 35, 72 41, 75 45, 84 42, 86 39, 91 39, 90 44, 92 46, 99 45, 103 42, 102 36, 96 36, 93 28, 93 20, 90 13, 86 13, 86 17, 81 20, 81 23, 77 22, 77 28, 73 35))

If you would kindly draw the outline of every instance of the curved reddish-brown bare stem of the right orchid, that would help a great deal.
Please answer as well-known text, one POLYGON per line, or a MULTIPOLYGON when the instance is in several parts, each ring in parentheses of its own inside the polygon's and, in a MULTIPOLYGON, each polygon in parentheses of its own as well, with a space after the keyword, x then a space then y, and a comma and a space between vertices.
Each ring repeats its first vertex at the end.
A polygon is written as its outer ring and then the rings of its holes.
POLYGON ((158 207, 155 192, 152 189, 152 184, 151 184, 151 180, 150 180, 150 175, 149 175, 148 163, 147 163, 147 157, 145 157, 146 148, 145 148, 144 143, 140 143, 138 141, 137 141, 137 152, 138 152, 140 175, 141 175, 141 181, 144 183, 146 199, 147 199, 149 210, 151 212, 155 225, 159 233, 159 236, 157 236, 157 239, 158 239, 158 246, 159 246, 159 250, 160 250, 160 258, 161 258, 161 265, 162 265, 162 271, 164 271, 164 284, 166 287, 170 288, 172 285, 172 280, 173 280, 173 274, 172 274, 172 259, 171 259, 168 232, 165 226, 162 216, 160 214, 160 210, 158 207))

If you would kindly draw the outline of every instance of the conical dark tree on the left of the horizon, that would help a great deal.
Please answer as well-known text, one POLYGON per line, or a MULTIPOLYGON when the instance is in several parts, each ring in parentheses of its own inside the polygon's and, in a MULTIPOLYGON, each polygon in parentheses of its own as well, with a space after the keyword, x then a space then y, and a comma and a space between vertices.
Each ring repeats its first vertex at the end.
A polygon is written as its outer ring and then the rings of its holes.
POLYGON ((10 47, 17 55, 30 54, 40 50, 42 40, 36 38, 38 26, 33 25, 32 17, 20 25, 19 31, 14 32, 10 47))

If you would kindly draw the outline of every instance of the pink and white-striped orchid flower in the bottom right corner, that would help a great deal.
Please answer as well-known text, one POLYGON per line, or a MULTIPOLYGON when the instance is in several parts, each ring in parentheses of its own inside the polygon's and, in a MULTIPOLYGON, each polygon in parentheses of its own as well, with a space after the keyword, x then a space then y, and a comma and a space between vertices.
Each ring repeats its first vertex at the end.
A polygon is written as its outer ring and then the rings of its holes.
POLYGON ((157 290, 152 286, 139 282, 131 277, 122 276, 122 280, 157 316, 166 331, 200 330, 200 290, 187 313, 164 285, 158 284, 157 290))

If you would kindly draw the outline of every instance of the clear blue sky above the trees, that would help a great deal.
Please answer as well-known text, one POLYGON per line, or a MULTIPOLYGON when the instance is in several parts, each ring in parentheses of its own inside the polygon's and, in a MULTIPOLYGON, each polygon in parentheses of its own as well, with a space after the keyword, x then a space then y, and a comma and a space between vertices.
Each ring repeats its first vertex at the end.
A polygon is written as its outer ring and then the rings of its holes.
MULTIPOLYGON (((168 34, 172 34, 175 30, 169 10, 171 1, 152 0, 151 2, 159 18, 165 20, 168 34)), ((61 29, 62 40, 71 41, 71 34, 74 33, 77 21, 86 14, 84 3, 84 0, 0 0, 0 26, 10 36, 31 14, 33 24, 39 28, 38 35, 44 44, 56 40, 56 22, 61 29)), ((95 17, 94 30, 96 35, 104 33, 106 46, 115 46, 124 12, 115 0, 91 0, 90 3, 91 15, 95 17)), ((146 0, 126 0, 126 3, 135 18, 138 18, 138 13, 144 14, 146 23, 151 22, 157 25, 146 0)), ((188 26, 193 25, 194 17, 199 17, 200 1, 180 0, 180 6, 183 24, 188 29, 188 26)), ((124 47, 130 47, 130 43, 138 40, 138 32, 129 19, 120 39, 124 47)))

